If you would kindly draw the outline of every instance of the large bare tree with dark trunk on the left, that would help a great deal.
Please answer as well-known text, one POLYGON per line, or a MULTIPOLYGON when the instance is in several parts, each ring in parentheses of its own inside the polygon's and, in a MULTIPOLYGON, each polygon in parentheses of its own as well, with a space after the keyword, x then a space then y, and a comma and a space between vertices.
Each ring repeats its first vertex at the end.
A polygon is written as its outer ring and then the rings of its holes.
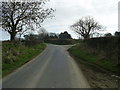
POLYGON ((27 31, 26 28, 34 30, 34 25, 40 27, 46 18, 53 16, 54 10, 44 7, 46 1, 2 2, 2 28, 10 34, 11 40, 15 39, 17 33, 27 31))

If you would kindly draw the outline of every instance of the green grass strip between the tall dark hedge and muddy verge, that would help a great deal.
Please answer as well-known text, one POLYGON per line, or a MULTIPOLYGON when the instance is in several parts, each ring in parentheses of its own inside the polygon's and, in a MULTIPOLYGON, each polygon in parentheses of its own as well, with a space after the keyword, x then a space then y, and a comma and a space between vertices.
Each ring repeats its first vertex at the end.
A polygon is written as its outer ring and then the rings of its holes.
POLYGON ((101 57, 99 55, 93 55, 93 54, 88 53, 86 50, 81 48, 80 44, 70 48, 69 52, 77 60, 83 60, 85 62, 95 64, 96 66, 99 66, 108 71, 111 71, 114 73, 120 73, 120 67, 115 66, 109 60, 100 59, 101 57))

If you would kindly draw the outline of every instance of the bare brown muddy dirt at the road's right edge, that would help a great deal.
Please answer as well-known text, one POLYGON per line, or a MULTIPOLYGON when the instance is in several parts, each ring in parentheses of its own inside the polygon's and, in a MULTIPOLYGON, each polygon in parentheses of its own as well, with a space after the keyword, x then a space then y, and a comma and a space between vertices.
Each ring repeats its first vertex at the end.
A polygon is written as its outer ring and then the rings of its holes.
MULTIPOLYGON (((80 63, 79 66, 92 88, 118 88, 120 79, 112 73, 99 70, 98 68, 80 63)), ((120 88, 120 87, 119 87, 120 88)))

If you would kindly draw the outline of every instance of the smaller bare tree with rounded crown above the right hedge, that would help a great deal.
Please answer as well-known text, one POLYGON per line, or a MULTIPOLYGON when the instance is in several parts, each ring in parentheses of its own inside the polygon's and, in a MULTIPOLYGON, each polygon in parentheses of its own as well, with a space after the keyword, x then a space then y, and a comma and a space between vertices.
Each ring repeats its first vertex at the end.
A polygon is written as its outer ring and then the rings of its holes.
POLYGON ((81 35, 84 39, 90 38, 97 30, 103 27, 92 17, 81 18, 78 22, 71 25, 72 30, 81 35))

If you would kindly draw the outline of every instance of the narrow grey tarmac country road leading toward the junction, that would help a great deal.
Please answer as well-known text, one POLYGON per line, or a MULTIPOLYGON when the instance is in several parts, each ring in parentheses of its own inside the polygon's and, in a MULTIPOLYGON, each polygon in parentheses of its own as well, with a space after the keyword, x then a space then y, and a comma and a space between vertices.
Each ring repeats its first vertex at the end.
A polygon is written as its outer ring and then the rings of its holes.
POLYGON ((89 88, 69 47, 48 44, 43 53, 6 76, 3 88, 89 88))

